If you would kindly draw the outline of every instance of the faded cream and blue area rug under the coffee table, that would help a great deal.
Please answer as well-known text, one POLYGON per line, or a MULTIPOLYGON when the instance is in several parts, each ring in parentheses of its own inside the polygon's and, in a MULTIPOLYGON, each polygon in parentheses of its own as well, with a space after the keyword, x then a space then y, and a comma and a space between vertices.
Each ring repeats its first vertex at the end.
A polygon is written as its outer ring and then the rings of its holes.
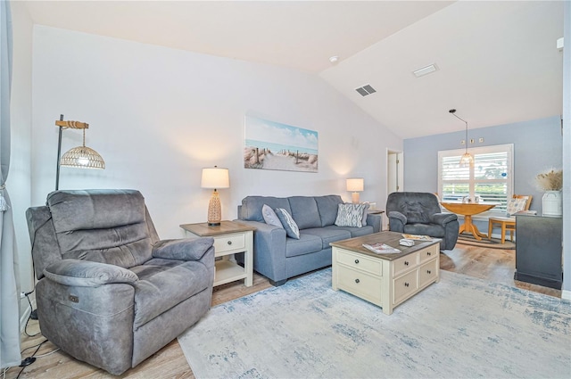
POLYGON ((214 307, 178 342, 197 378, 567 378, 571 303, 442 271, 387 316, 327 268, 214 307))

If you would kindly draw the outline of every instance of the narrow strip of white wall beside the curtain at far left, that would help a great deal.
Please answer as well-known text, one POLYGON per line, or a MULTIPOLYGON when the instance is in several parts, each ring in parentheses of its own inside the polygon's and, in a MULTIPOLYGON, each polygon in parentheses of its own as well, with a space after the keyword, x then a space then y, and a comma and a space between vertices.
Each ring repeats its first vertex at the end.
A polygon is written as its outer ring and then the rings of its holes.
MULTIPOLYGON (((11 2, 12 10, 12 96, 11 157, 6 187, 12 200, 16 245, 20 262, 21 291, 34 288, 28 227, 24 211, 31 197, 31 108, 32 108, 32 28, 26 7, 11 2)), ((21 317, 29 312, 28 301, 21 302, 21 317)))

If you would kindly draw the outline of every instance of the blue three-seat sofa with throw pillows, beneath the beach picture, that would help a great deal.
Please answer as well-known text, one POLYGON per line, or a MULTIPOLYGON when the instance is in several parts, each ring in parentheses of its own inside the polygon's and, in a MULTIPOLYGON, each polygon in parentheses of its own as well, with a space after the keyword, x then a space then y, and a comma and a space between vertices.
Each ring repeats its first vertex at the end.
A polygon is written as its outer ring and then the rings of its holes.
MULTIPOLYGON (((326 196, 247 196, 238 206, 238 221, 256 227, 253 237, 253 269, 269 278, 273 285, 285 284, 288 278, 331 265, 329 243, 360 235, 377 233, 381 215, 367 215, 367 226, 337 227, 339 195, 326 196), (285 235, 285 229, 264 222, 264 204, 283 208, 294 218, 300 239, 285 235)), ((240 257, 238 257, 240 260, 240 257)))

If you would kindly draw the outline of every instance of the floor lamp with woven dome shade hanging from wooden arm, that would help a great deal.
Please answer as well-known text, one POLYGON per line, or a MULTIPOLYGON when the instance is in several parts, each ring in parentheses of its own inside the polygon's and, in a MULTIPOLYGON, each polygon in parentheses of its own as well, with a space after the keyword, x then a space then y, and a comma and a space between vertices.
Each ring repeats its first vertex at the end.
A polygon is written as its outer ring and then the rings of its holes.
POLYGON ((63 115, 55 121, 55 125, 60 128, 57 140, 57 166, 55 173, 55 190, 60 187, 60 166, 72 167, 76 169, 105 169, 105 161, 98 152, 86 146, 86 129, 89 124, 79 121, 64 121, 63 115), (63 129, 82 129, 83 144, 70 149, 63 154, 62 158, 62 131, 63 129))

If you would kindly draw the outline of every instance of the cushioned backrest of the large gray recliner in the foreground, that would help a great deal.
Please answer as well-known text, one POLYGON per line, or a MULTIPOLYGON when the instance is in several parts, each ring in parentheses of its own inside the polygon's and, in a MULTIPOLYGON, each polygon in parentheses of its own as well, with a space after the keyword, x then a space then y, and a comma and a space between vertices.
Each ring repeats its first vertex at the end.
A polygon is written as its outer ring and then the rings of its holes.
POLYGON ((152 258, 158 235, 135 190, 55 191, 46 207, 27 211, 39 279, 54 260, 76 259, 131 268, 152 258))

